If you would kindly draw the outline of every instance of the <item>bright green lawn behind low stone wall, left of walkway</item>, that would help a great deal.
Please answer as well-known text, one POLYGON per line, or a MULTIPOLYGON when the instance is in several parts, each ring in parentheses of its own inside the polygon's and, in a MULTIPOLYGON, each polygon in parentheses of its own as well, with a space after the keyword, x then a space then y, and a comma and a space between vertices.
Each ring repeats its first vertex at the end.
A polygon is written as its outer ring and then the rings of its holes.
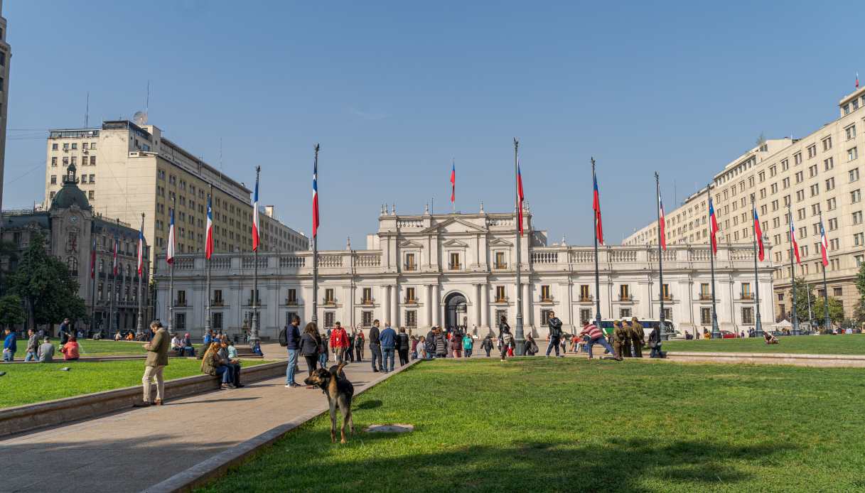
MULTIPOLYGON (((247 360, 246 367, 266 363, 247 360)), ((172 359, 165 368, 165 380, 201 375, 202 362, 172 359)), ((143 360, 112 362, 54 362, 0 365, 0 408, 22 406, 43 400, 62 399, 112 388, 141 385, 143 360), (61 371, 60 368, 72 368, 61 371)), ((241 372, 241 378, 243 376, 241 372)))

